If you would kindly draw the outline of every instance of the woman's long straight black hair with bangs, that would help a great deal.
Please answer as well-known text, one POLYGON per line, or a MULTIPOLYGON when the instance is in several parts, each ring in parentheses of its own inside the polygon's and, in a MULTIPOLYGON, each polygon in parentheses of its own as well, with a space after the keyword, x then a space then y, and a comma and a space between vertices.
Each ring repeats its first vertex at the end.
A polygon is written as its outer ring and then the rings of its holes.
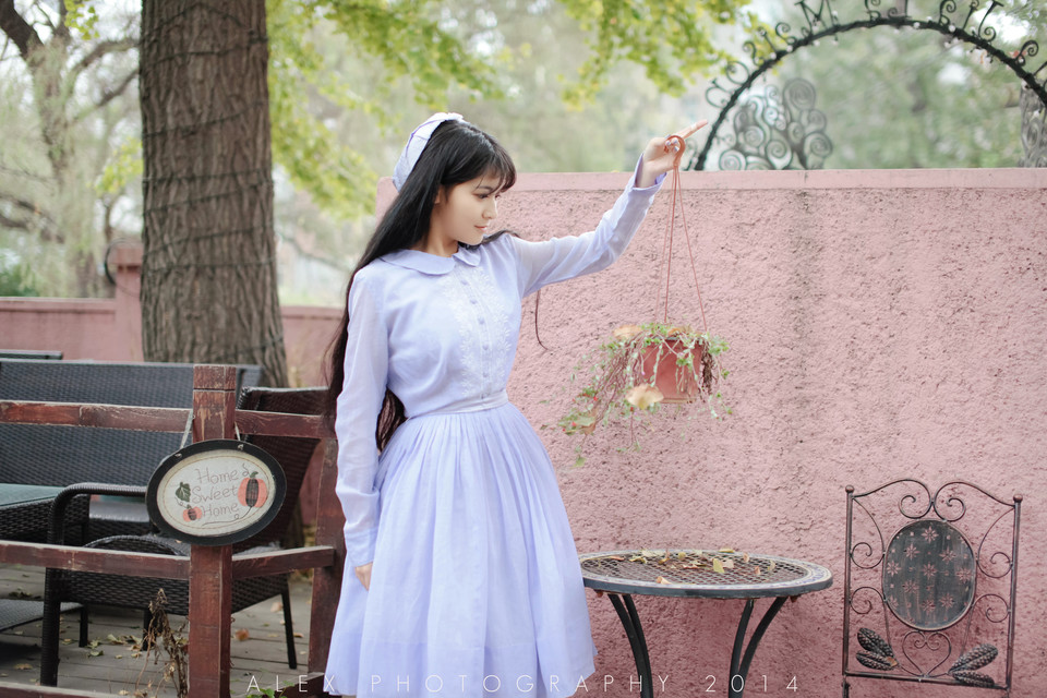
MULTIPOLYGON (((516 183, 516 166, 513 158, 491 135, 468 121, 444 121, 433 131, 414 169, 404 182, 393 205, 375 228, 374 234, 349 277, 346 303, 338 326, 338 334, 327 351, 325 375, 328 380, 324 417, 334 425, 338 395, 345 382, 346 346, 349 340, 349 291, 357 272, 382 255, 397 250, 408 250, 419 244, 429 233, 433 205, 443 188, 452 188, 484 174, 496 178, 496 192, 503 192, 516 183)), ((489 242, 497 234, 488 238, 489 242)), ((482 244, 482 243, 481 243, 482 244)), ((392 390, 386 390, 385 401, 375 428, 375 443, 385 448, 393 432, 404 423, 404 404, 392 390)))

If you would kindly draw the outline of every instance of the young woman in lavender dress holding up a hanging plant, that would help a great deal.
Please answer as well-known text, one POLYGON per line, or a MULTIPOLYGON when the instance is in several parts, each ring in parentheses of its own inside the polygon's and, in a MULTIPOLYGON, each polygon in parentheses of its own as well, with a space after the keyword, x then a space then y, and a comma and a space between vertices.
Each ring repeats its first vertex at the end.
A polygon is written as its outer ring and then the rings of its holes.
POLYGON ((493 137, 454 113, 411 134, 332 348, 336 492, 354 574, 342 580, 329 693, 570 696, 593 672, 556 477, 505 386, 520 300, 614 262, 675 149, 648 144, 594 231, 528 242, 489 236, 516 180, 493 137))

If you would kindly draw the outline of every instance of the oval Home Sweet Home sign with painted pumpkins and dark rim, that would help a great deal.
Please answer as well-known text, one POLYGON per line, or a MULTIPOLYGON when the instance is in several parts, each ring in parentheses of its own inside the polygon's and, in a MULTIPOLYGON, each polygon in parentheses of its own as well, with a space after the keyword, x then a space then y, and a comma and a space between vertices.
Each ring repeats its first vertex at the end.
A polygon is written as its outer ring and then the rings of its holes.
POLYGON ((149 518, 165 534, 200 545, 251 538, 284 504, 284 469, 253 444, 202 441, 160 462, 149 479, 149 518))

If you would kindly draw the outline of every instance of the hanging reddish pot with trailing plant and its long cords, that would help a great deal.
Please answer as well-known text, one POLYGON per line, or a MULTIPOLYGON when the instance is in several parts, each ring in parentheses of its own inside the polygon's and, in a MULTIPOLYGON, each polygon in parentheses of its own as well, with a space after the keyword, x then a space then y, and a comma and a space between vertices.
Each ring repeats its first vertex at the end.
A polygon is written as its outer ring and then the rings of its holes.
MULTIPOLYGON (((600 424, 628 421, 630 444, 638 449, 636 420, 638 417, 657 414, 664 405, 684 405, 701 400, 713 418, 730 414, 731 408, 723 402, 719 389, 727 372, 720 365, 720 356, 727 345, 709 333, 701 290, 698 288, 698 267, 687 232, 683 196, 679 185, 679 163, 685 142, 678 135, 665 141, 666 148, 676 153, 672 170, 672 198, 669 220, 662 241, 662 258, 659 265, 659 282, 654 298, 652 321, 639 325, 622 325, 610 339, 586 354, 574 368, 571 382, 583 380, 585 385, 573 398, 567 413, 559 420, 561 430, 569 435, 585 438, 600 424), (669 296, 673 267, 673 243, 676 238, 676 212, 679 210, 681 228, 687 244, 701 329, 690 325, 671 323, 669 296), (664 272, 664 274, 663 274, 664 272), (662 286, 664 285, 664 301, 662 286)), ((581 445, 576 449, 576 466, 585 462, 581 445)))

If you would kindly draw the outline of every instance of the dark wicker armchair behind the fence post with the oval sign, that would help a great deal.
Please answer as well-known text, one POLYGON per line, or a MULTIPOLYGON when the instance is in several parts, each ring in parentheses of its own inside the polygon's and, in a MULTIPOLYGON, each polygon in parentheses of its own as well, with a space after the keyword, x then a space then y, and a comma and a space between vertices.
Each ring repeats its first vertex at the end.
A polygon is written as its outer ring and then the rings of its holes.
MULTIPOLYGON (((323 388, 252 387, 242 392, 239 407, 244 410, 318 414, 323 410, 323 388)), ((282 436, 249 436, 246 441, 267 452, 280 464, 287 480, 287 494, 273 522, 252 538, 233 545, 233 553, 265 552, 279 547, 280 541, 292 521, 299 491, 305 478, 309 462, 316 445, 320 443, 316 438, 282 436)), ((144 488, 142 490, 144 492, 144 488)), ((108 488, 96 488, 93 491, 124 493, 120 489, 108 488)), ((79 490, 77 485, 69 488, 70 494, 75 492, 82 492, 82 490, 79 490)), ((53 521, 52 530, 61 529, 61 524, 57 520, 53 521)), ((189 555, 190 552, 189 545, 156 534, 111 535, 92 541, 87 546, 166 555, 189 555)), ((157 591, 163 588, 167 597, 167 612, 177 615, 189 614, 189 583, 185 580, 69 573, 57 569, 48 569, 47 575, 44 592, 45 615, 41 636, 43 660, 40 663, 40 683, 45 686, 53 686, 58 682, 59 603, 75 601, 83 604, 142 609, 145 612, 147 628, 151 621, 148 615, 149 602, 156 598, 157 591)), ((277 594, 284 601, 287 663, 290 669, 297 669, 298 661, 294 651, 294 629, 291 621, 288 575, 233 579, 232 611, 243 610, 277 594)), ((81 611, 80 643, 82 647, 87 643, 86 627, 85 607, 81 611)))

